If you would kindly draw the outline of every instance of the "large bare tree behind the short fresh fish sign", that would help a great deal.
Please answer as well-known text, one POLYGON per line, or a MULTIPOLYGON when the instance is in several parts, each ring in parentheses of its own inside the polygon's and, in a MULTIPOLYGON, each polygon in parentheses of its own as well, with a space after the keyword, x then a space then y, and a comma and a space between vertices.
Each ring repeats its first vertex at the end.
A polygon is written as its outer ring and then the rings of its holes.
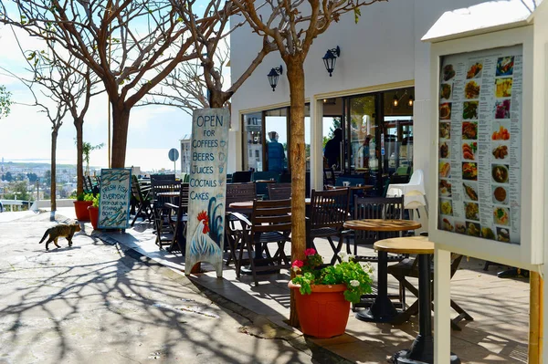
MULTIPOLYGON (((168 0, 14 0, 2 5, 0 23, 64 47, 103 82, 112 108, 112 167, 123 167, 130 112, 182 61, 200 53, 168 0)), ((194 16, 200 32, 216 16, 194 16)), ((212 30, 213 31, 213 30, 212 30)))

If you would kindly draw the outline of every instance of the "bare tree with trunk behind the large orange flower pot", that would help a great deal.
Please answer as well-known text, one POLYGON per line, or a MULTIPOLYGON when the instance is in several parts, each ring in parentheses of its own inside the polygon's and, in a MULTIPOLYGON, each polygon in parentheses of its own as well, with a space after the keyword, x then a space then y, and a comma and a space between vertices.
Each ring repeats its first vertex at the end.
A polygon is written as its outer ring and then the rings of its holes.
MULTIPOLYGON (((232 0, 245 16, 254 33, 273 42, 286 65, 290 84, 290 161, 291 161, 291 258, 304 258, 305 241, 305 143, 304 143, 304 61, 313 40, 325 33, 342 14, 382 0, 267 1, 232 0), (261 6, 264 8, 261 9, 261 6)), ((292 295, 292 293, 291 293, 292 295)), ((291 296, 290 325, 299 323, 291 296)))

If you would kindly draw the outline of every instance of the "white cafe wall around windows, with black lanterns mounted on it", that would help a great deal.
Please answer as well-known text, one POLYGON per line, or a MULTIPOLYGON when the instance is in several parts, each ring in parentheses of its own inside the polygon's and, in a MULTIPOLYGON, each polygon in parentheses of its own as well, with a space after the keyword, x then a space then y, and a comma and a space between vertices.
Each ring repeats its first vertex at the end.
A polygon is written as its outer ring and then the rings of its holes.
MULTIPOLYGON (((479 0, 391 0, 362 8, 358 24, 353 13, 342 16, 329 30, 314 40, 305 63, 305 95, 314 95, 367 88, 393 82, 415 80, 414 164, 415 169, 428 173, 429 132, 429 44, 421 42, 439 16, 445 11, 482 3, 479 0), (323 66, 321 57, 327 49, 341 47, 341 57, 332 77, 323 66)), ((232 79, 248 68, 260 46, 260 38, 242 27, 231 36, 232 79), (255 46, 254 46, 255 45, 255 46)), ((238 120, 240 110, 270 109, 270 105, 289 102, 289 87, 285 77, 279 78, 276 92, 269 88, 267 74, 279 67, 278 52, 265 58, 232 98, 232 118, 238 120)), ((285 66, 285 65, 284 65, 285 66)), ((320 122, 313 117, 312 122, 320 122)), ((237 131, 238 133, 241 131, 237 131)), ((236 133, 235 139, 237 138, 236 133)), ((231 140, 232 141, 232 140, 231 140)), ((241 151, 237 146, 240 166, 241 151)), ((428 175, 428 174, 426 174, 428 175)))

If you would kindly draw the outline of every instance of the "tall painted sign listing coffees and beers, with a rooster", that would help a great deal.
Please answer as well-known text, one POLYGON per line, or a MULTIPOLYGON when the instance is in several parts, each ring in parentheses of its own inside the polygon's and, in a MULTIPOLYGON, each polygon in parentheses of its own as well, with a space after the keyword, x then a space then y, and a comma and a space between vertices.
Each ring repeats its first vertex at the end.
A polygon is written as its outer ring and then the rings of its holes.
POLYGON ((193 114, 188 224, 184 273, 198 262, 223 272, 228 109, 199 109, 193 114))

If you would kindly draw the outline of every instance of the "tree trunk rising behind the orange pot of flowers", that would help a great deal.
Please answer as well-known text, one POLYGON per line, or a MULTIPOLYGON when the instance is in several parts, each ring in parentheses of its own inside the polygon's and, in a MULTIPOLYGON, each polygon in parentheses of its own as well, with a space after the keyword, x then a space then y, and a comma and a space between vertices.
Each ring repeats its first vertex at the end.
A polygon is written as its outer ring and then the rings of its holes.
MULTIPOLYGON (((290 82, 290 161, 291 161, 291 261, 304 259, 306 248, 304 144, 304 67, 300 58, 286 62, 290 82)), ((293 274, 291 272, 291 274, 293 274)), ((297 327, 299 317, 291 289, 290 325, 297 327)))

